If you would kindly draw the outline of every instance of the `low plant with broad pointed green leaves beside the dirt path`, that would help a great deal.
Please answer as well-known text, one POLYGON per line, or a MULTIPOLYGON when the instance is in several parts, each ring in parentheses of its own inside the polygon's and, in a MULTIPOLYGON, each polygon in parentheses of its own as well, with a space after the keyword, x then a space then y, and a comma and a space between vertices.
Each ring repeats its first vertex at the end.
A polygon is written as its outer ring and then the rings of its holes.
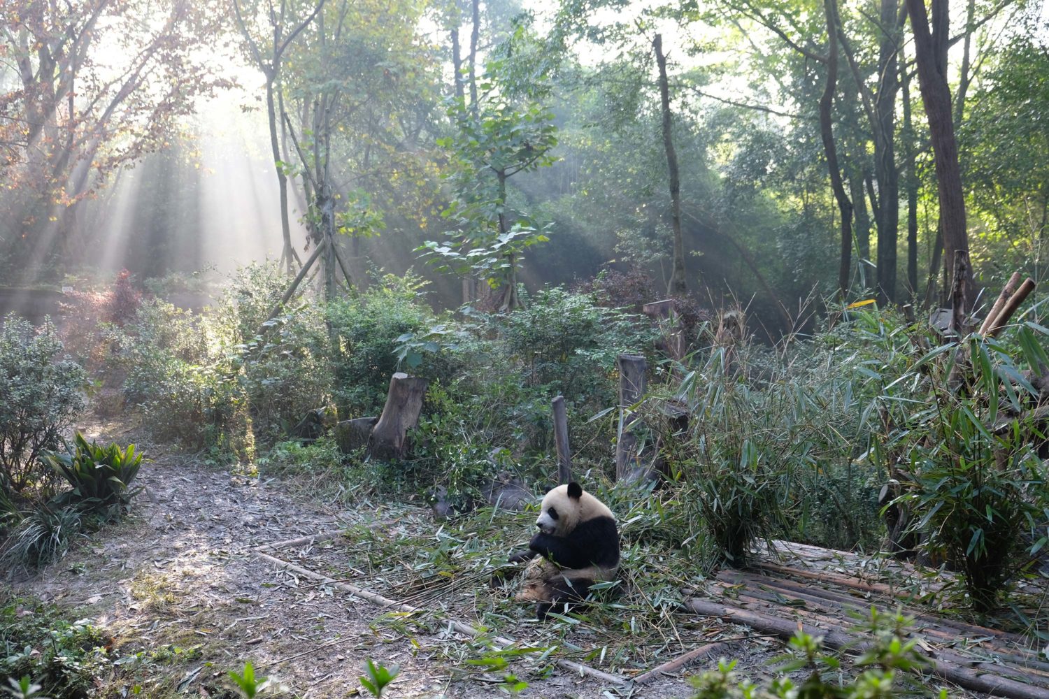
POLYGON ((42 458, 72 488, 62 494, 62 502, 90 511, 123 509, 131 498, 131 481, 142 467, 142 454, 135 453, 134 444, 127 449, 115 443, 102 446, 88 442, 79 432, 71 452, 52 452, 42 458))

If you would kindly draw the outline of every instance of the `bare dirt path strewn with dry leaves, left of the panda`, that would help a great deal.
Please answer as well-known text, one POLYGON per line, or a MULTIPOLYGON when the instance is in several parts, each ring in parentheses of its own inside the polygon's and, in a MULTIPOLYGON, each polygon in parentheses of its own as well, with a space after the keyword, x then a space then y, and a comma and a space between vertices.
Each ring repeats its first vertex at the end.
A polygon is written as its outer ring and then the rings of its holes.
MULTIPOLYGON (((111 430, 104 437, 128 441, 111 430)), ((507 696, 497 677, 455 672, 469 668, 462 662, 465 636, 435 625, 406 630, 386 610, 300 580, 252 551, 339 528, 338 511, 288 496, 279 481, 157 453, 147 447, 155 461, 140 475, 144 492, 126 521, 16 584, 19 593, 89 619, 122 657, 134 657, 114 668, 100 695, 128 696, 137 684, 156 698, 230 696, 226 673, 251 660, 292 696, 359 696, 358 677, 371 658, 400 665, 393 698, 507 696)), ((295 556, 285 551, 285 560, 295 556)), ((517 662, 512 671, 529 683, 523 696, 689 696, 677 680, 630 694, 561 669, 538 677, 534 665, 517 662)))

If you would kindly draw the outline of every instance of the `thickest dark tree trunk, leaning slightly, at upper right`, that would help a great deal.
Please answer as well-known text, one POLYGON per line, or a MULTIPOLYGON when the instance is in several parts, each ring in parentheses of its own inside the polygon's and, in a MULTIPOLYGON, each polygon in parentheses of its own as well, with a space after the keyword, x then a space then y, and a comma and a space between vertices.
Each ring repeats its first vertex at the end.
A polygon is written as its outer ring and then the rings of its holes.
MULTIPOLYGON (((962 190, 962 172, 958 162, 958 143, 951 118, 950 89, 947 87, 947 0, 933 0, 933 25, 929 29, 924 0, 906 0, 907 13, 915 39, 915 63, 922 103, 928 118, 933 155, 940 199, 940 218, 943 231, 943 248, 947 268, 955 268, 955 252, 968 250, 968 231, 965 225, 965 194, 962 190)), ((970 289, 969 303, 976 297, 972 269, 966 286, 970 289)))

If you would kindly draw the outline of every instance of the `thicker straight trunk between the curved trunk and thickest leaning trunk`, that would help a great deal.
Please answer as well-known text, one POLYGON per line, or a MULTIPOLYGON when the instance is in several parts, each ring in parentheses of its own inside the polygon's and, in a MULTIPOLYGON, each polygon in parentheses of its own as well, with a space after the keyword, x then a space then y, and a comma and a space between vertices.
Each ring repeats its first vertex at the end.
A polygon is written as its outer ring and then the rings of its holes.
POLYGON ((899 173, 896 169, 897 57, 900 44, 898 0, 881 0, 881 40, 878 47, 878 91, 875 97, 874 168, 878 180, 878 286, 882 303, 896 299, 897 238, 900 223, 899 173))

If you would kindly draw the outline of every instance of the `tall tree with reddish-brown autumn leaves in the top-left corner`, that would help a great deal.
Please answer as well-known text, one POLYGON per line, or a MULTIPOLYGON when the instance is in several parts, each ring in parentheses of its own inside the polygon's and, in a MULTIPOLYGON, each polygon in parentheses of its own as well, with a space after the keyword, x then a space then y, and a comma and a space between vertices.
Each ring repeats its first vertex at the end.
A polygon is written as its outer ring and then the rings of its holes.
POLYGON ((80 203, 163 148, 194 101, 229 84, 206 51, 211 2, 0 4, 0 245, 31 281, 73 243, 80 203))

